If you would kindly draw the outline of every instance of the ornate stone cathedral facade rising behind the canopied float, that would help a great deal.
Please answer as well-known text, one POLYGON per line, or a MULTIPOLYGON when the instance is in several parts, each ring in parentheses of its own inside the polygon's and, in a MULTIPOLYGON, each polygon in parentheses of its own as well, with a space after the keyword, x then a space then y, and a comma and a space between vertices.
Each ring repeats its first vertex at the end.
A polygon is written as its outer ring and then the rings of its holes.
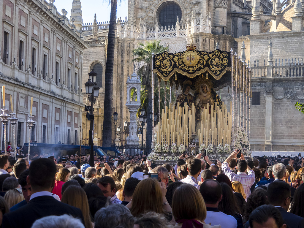
MULTIPOLYGON (((129 121, 125 83, 136 71, 132 50, 139 43, 161 40, 173 53, 185 50, 191 40, 197 50, 204 51, 213 51, 218 43, 220 50, 233 49, 252 70, 252 150, 301 151, 303 117, 294 103, 304 97, 302 4, 299 0, 282 4, 276 0, 129 0, 128 17, 119 18, 116 24, 113 112, 119 114, 117 126, 129 121)), ((82 25, 88 44, 83 74, 98 68, 102 94, 109 24, 97 22, 96 17, 93 23, 82 25)), ((225 103, 229 103, 228 93, 228 88, 220 93, 225 103)), ((96 109, 100 121, 95 121, 98 138, 102 136, 102 107, 101 95, 96 109)), ((88 126, 85 121, 83 126, 88 126)), ((112 138, 114 129, 113 124, 112 138)))

